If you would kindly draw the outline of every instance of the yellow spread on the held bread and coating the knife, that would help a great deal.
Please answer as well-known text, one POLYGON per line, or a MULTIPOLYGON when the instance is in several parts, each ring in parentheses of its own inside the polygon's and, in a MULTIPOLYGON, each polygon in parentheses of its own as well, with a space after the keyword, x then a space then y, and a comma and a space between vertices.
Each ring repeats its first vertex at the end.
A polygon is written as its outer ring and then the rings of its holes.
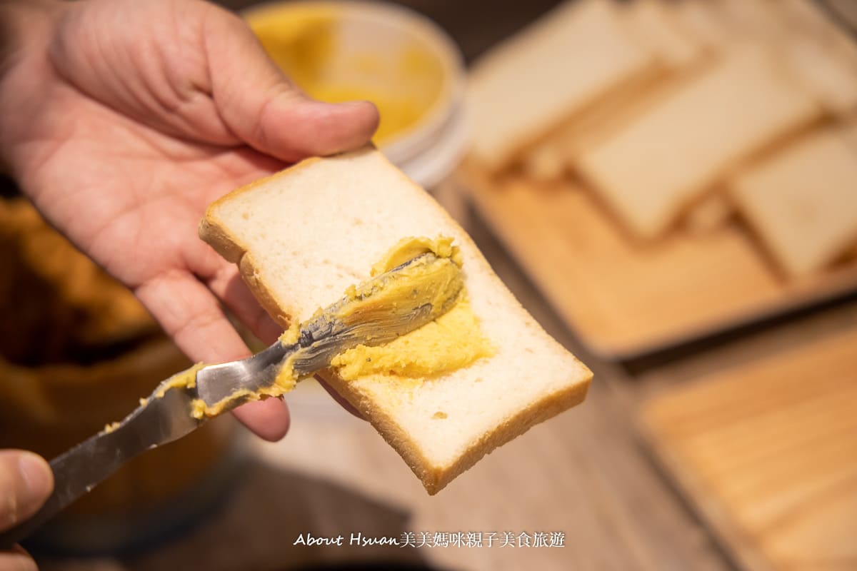
MULTIPOLYGON (((341 378, 354 380, 381 375, 391 381, 419 383, 424 378, 469 366, 482 357, 494 354, 494 348, 482 334, 479 320, 464 291, 458 271, 462 264, 461 253, 458 247, 452 246, 451 238, 405 238, 373 266, 372 276, 381 276, 428 252, 434 253, 436 257, 417 259, 395 272, 394 277, 382 277, 380 282, 369 281, 346 290, 345 298, 348 301, 330 316, 345 324, 361 324, 373 315, 411 314, 417 308, 416 304, 423 306, 427 299, 431 300, 434 320, 392 342, 372 347, 358 345, 337 355, 331 366, 341 378), (452 308, 447 307, 450 300, 454 300, 452 308)), ((323 316, 321 311, 316 312, 315 318, 323 316)), ((280 336, 280 341, 285 344, 295 343, 299 335, 300 326, 292 324, 280 336)), ((196 419, 212 417, 222 413, 236 400, 258 401, 266 396, 280 396, 289 392, 299 380, 293 366, 296 357, 297 354, 292 354, 285 361, 273 386, 255 392, 237 390, 213 406, 195 399, 191 403, 191 415, 196 419)), ((199 363, 173 375, 160 385, 154 398, 164 396, 166 391, 173 388, 193 388, 196 372, 203 366, 199 363)))

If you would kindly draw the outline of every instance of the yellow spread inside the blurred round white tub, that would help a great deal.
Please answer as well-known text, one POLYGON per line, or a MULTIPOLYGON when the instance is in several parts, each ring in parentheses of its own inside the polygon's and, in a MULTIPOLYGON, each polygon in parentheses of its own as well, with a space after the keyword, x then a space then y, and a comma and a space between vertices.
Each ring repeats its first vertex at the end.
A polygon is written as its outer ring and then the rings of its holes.
POLYGON ((335 6, 298 3, 257 11, 248 23, 273 61, 311 97, 377 105, 381 124, 375 141, 383 145, 440 98, 443 65, 414 41, 384 53, 340 45, 343 15, 335 6))

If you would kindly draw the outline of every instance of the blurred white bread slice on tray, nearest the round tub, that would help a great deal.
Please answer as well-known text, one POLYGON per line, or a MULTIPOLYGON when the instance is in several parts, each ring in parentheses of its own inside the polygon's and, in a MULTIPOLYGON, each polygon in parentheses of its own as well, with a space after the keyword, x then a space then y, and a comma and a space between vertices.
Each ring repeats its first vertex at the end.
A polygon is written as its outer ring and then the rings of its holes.
POLYGON ((566 2, 481 57, 470 73, 473 156, 499 169, 657 62, 610 0, 566 2))

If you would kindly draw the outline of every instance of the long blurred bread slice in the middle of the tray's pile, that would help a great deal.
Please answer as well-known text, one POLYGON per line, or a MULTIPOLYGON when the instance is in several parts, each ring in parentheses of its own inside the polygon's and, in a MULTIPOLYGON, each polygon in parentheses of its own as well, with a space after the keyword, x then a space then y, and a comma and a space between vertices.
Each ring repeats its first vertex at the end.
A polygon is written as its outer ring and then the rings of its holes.
POLYGON ((725 172, 821 113, 756 46, 731 51, 578 158, 626 223, 652 238, 725 172))

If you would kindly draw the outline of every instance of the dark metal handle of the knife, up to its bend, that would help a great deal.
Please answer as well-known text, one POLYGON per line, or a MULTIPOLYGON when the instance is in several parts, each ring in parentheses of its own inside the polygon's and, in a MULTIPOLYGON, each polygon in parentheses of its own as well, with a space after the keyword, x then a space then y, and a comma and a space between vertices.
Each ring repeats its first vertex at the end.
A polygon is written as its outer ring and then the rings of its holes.
POLYGON ((0 550, 9 550, 27 538, 136 455, 193 431, 201 421, 190 417, 189 402, 184 390, 169 390, 157 399, 150 397, 115 430, 101 431, 51 460, 51 496, 29 519, 0 533, 0 550), (176 414, 180 411, 183 414, 176 414))

